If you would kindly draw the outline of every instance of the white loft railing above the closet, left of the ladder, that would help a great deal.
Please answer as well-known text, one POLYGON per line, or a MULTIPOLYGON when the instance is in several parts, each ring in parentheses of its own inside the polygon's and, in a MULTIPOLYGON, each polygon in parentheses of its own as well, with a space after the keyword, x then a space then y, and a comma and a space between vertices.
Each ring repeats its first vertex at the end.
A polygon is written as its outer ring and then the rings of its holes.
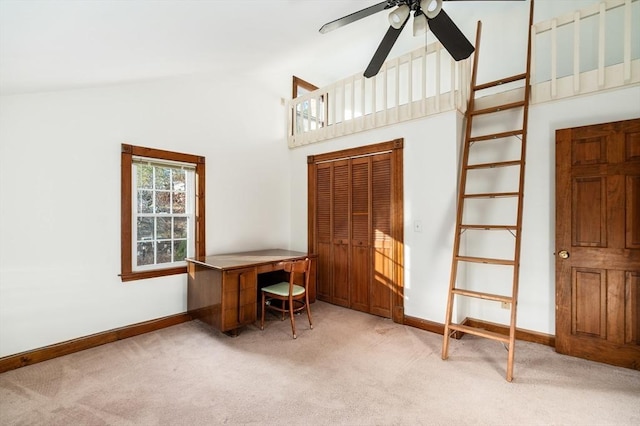
POLYGON ((400 123, 467 105, 469 60, 455 62, 432 43, 287 103, 290 148, 400 123))

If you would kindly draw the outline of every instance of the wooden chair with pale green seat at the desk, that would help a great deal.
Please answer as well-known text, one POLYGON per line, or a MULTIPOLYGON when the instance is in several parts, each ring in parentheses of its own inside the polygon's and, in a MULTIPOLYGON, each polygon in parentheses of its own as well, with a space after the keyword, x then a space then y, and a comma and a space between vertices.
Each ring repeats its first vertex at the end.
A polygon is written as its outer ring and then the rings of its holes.
POLYGON ((260 330, 264 330, 264 313, 267 309, 280 312, 282 314, 282 321, 284 321, 284 314, 289 313, 289 318, 291 318, 291 331, 295 339, 297 337, 296 320, 294 318, 295 313, 306 309, 307 317, 309 318, 309 327, 313 329, 311 309, 309 308, 309 292, 307 291, 311 261, 307 258, 283 263, 285 272, 289 273, 289 282, 283 281, 262 288, 262 318, 260 320, 260 330), (299 274, 303 274, 301 285, 294 283, 296 275, 299 274), (277 301, 280 301, 280 303, 278 304, 277 301))

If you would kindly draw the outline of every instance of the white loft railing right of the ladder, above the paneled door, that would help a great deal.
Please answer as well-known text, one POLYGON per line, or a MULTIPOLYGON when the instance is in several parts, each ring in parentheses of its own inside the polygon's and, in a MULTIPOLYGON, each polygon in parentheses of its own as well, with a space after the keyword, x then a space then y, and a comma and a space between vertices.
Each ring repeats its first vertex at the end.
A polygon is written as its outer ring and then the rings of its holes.
POLYGON ((531 101, 640 83, 640 1, 605 0, 533 26, 531 101))

